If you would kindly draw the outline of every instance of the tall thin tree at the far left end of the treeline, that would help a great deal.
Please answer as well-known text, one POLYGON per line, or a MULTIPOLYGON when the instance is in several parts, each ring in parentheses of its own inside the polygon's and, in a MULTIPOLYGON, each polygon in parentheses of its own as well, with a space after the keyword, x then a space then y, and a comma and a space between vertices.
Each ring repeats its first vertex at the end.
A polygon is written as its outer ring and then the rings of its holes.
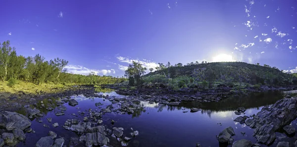
MULTIPOLYGON (((1 47, 1 46, 0 46, 1 47)), ((12 52, 12 50, 14 50, 14 48, 12 49, 10 47, 10 41, 7 40, 6 42, 4 41, 2 43, 2 47, 1 47, 1 53, 0 53, 0 64, 4 69, 4 75, 3 75, 3 81, 5 81, 5 77, 7 76, 7 71, 8 71, 8 63, 9 60, 11 58, 10 54, 12 52)))

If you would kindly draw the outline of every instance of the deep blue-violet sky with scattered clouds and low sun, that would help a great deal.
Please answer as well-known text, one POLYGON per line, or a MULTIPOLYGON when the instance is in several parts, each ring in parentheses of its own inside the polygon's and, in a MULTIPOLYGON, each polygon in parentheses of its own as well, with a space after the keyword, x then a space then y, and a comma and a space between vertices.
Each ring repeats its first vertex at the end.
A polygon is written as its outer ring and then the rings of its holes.
POLYGON ((4 0, 0 42, 122 76, 132 61, 243 61, 297 72, 297 0, 4 0))

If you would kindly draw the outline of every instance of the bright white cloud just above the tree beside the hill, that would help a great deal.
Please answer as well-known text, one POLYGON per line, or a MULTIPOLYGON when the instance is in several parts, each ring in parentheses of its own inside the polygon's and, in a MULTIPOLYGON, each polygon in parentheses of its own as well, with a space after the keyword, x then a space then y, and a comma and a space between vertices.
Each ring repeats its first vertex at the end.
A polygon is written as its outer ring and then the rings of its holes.
MULTIPOLYGON (((134 61, 134 62, 137 62, 137 63, 140 63, 140 64, 142 64, 145 68, 147 68, 147 70, 148 69, 150 69, 150 68, 156 68, 156 67, 158 67, 159 65, 157 64, 157 63, 155 63, 155 62, 152 62, 152 61, 149 61, 149 60, 133 60, 133 59, 130 59, 129 57, 122 57, 122 56, 117 56, 116 57, 120 62, 123 62, 123 63, 128 63, 128 64, 132 64, 132 62, 134 61)), ((119 66, 119 69, 120 70, 123 70, 123 68, 125 68, 125 67, 120 67, 119 66)))

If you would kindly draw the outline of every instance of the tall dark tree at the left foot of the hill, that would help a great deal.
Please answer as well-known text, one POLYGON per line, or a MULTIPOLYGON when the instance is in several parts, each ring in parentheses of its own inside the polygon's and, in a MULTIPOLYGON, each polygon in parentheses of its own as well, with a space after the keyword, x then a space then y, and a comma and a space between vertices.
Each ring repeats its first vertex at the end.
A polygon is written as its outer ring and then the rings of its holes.
POLYGON ((125 71, 125 76, 129 78, 129 83, 134 85, 134 79, 136 80, 137 87, 140 85, 141 76, 146 73, 147 68, 144 68, 142 64, 135 61, 129 65, 125 71), (133 82, 132 82, 133 80, 133 82))

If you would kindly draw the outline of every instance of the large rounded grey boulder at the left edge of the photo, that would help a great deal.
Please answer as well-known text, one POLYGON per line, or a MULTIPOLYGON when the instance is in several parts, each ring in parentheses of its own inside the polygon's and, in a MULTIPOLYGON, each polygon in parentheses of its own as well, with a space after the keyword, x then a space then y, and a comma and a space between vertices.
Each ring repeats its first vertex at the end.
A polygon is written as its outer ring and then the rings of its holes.
POLYGON ((31 122, 22 114, 10 111, 1 111, 0 126, 5 127, 8 131, 13 129, 24 130, 25 128, 31 126, 31 122))

